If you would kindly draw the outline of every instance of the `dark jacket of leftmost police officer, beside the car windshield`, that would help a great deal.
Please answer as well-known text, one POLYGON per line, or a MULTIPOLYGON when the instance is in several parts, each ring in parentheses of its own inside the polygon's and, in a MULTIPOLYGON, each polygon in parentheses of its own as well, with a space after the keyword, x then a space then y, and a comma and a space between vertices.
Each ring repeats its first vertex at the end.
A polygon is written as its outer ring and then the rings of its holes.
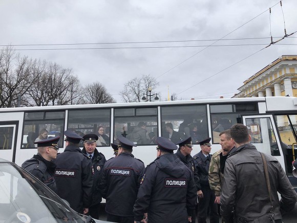
POLYGON ((37 153, 37 155, 34 155, 31 159, 26 160, 24 164, 22 164, 22 168, 38 178, 52 191, 56 192, 57 188, 54 178, 56 165, 53 162, 44 159, 44 157, 37 153))

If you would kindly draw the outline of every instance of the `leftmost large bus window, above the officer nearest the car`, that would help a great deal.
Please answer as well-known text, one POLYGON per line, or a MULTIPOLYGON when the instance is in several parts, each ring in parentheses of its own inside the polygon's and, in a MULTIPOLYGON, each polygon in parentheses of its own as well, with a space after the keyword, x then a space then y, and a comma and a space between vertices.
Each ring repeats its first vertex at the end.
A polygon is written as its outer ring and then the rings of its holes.
POLYGON ((60 136, 58 146, 63 147, 65 111, 25 112, 22 149, 36 148, 34 141, 60 136))

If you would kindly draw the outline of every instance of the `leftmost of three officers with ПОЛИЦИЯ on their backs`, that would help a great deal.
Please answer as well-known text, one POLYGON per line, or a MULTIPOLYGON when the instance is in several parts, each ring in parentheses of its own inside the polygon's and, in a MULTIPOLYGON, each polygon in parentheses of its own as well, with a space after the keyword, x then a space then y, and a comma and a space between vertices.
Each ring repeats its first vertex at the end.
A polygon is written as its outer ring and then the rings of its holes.
POLYGON ((93 186, 92 162, 78 147, 83 138, 69 130, 64 134, 66 148, 55 160, 57 194, 66 199, 74 211, 87 214, 93 186))

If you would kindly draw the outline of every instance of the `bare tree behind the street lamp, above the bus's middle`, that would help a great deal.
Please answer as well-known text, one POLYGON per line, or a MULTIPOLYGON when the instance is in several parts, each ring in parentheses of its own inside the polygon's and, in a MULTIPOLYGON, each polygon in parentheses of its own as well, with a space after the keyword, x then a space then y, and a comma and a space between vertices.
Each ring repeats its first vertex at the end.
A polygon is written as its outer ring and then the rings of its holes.
MULTIPOLYGON (((159 86, 155 77, 150 75, 142 75, 141 77, 135 77, 128 83, 124 84, 124 90, 120 91, 123 102, 142 102, 143 95, 150 94, 149 88, 152 87, 155 90, 159 86)), ((151 92, 151 94, 155 94, 151 92)), ((154 101, 154 97, 152 101, 154 101)))

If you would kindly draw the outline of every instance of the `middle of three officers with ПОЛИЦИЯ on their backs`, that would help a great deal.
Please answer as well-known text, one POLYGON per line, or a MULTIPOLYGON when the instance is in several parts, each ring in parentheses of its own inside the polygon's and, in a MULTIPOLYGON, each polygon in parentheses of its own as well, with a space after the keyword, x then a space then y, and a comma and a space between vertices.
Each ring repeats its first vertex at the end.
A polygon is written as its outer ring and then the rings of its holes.
POLYGON ((144 164, 132 155, 132 141, 123 136, 118 140, 118 156, 104 164, 99 188, 106 198, 107 221, 130 223, 144 164))

